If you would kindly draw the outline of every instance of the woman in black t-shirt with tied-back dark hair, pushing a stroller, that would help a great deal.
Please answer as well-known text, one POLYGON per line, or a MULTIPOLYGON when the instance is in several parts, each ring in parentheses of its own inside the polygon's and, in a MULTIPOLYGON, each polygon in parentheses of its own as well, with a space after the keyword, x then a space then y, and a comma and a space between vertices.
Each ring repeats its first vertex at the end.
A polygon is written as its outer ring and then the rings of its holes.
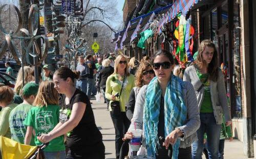
POLYGON ((66 158, 105 158, 102 135, 95 124, 90 100, 74 86, 77 77, 78 75, 67 67, 55 71, 54 87, 62 94, 60 122, 49 134, 42 134, 39 140, 47 143, 67 134, 69 152, 66 158))

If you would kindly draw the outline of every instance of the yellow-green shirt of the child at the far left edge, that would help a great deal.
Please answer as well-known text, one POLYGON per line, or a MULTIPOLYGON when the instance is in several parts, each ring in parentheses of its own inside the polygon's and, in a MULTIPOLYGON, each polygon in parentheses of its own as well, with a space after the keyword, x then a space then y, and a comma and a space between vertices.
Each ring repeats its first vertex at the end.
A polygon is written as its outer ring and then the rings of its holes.
POLYGON ((9 115, 12 109, 16 107, 17 104, 10 104, 5 107, 0 112, 0 136, 11 139, 11 131, 9 127, 9 115))

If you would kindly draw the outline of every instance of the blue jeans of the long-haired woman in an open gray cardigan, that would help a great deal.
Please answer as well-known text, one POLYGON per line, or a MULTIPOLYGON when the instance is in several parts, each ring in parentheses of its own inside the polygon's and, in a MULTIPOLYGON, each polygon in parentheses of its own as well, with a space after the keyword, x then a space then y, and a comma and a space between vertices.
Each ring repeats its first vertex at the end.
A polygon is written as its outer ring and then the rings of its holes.
POLYGON ((200 113, 200 121, 201 125, 197 130, 198 141, 192 144, 192 158, 202 158, 204 133, 206 133, 209 159, 219 159, 221 124, 216 123, 214 113, 200 113))

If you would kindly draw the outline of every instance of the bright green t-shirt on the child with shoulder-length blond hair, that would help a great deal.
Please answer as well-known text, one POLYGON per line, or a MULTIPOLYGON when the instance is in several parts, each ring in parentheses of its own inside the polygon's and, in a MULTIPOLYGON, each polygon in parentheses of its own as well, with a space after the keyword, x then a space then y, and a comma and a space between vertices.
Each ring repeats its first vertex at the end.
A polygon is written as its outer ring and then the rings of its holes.
MULTIPOLYGON (((24 125, 32 126, 36 136, 40 134, 48 134, 59 122, 59 106, 48 105, 47 107, 33 107, 30 109, 24 125)), ((42 143, 35 138, 35 144, 42 143)), ((63 136, 57 137, 50 141, 49 145, 44 149, 47 152, 65 150, 63 136)))

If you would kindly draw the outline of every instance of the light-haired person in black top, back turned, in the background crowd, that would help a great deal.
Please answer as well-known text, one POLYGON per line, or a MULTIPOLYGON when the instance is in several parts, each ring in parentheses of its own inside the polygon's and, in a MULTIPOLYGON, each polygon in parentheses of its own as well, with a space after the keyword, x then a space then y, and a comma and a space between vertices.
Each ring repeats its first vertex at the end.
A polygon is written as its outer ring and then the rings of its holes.
MULTIPOLYGON (((100 88, 103 90, 105 103, 106 103, 106 100, 108 100, 105 98, 106 79, 114 72, 114 68, 112 66, 110 66, 110 63, 111 63, 110 59, 105 59, 102 61, 103 68, 100 70, 99 76, 98 76, 97 89, 98 89, 98 92, 99 92, 100 88)), ((107 108, 108 108, 108 106, 107 106, 107 108)))

